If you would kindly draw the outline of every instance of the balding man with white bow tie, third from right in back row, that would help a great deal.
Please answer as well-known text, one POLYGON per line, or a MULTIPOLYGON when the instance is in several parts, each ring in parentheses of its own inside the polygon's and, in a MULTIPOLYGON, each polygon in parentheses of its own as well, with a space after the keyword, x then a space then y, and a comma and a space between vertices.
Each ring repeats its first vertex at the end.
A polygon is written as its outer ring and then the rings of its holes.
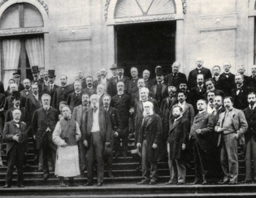
POLYGON ((234 75, 230 72, 230 62, 224 62, 224 72, 220 75, 218 80, 218 89, 224 91, 226 96, 231 96, 231 91, 235 88, 234 75))

